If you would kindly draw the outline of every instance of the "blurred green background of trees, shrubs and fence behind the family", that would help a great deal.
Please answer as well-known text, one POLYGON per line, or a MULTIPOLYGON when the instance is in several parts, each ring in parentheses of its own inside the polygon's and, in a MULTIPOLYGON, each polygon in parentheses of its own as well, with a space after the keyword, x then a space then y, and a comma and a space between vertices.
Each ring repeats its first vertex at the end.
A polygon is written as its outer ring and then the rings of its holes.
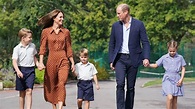
MULTIPOLYGON (((195 66, 195 1, 194 0, 0 0, 0 81, 13 82, 12 50, 18 44, 18 31, 25 27, 33 31, 33 42, 39 51, 38 19, 53 9, 65 13, 64 27, 71 32, 76 53, 85 47, 99 71, 98 78, 114 76, 108 63, 108 42, 112 24, 117 21, 116 6, 130 5, 131 16, 144 22, 151 43, 151 62, 167 52, 166 42, 180 43, 179 53, 187 62, 187 74, 194 77, 195 66), (12 76, 10 76, 10 73, 12 76), (12 78, 8 78, 12 77, 12 78)), ((162 68, 140 67, 138 77, 162 77, 162 68), (157 73, 157 74, 154 74, 157 73)), ((43 82, 43 72, 37 71, 36 83, 43 82)), ((69 79, 74 79, 71 75, 69 79)), ((9 86, 9 85, 8 85, 9 86)))

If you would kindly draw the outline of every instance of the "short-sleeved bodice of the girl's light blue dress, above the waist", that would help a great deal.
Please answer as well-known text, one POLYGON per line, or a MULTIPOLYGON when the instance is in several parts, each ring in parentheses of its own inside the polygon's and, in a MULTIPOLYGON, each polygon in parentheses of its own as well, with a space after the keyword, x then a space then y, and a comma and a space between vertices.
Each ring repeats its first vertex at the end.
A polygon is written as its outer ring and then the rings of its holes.
POLYGON ((178 53, 174 57, 171 57, 169 53, 163 55, 160 59, 156 61, 158 66, 163 66, 165 73, 167 74, 178 74, 181 68, 186 65, 186 62, 182 55, 178 53))

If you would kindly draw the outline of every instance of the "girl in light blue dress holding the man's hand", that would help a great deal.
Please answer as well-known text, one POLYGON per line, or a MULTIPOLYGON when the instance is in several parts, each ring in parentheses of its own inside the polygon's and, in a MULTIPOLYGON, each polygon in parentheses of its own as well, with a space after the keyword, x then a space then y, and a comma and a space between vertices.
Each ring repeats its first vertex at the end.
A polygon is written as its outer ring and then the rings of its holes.
POLYGON ((183 96, 183 80, 186 62, 183 56, 177 53, 178 44, 171 40, 167 43, 168 53, 163 55, 155 64, 148 67, 157 68, 163 66, 165 74, 162 79, 162 93, 167 96, 167 109, 177 109, 177 97, 183 96), (181 71, 181 76, 179 72, 181 71))

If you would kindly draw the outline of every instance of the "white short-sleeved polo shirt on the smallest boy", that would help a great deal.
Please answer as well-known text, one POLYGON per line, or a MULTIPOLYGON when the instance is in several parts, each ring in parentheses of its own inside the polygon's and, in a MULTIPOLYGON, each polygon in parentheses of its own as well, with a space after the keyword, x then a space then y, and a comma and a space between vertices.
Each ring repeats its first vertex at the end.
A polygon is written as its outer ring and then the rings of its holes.
POLYGON ((87 64, 79 62, 75 65, 75 67, 77 79, 79 80, 92 80, 93 76, 98 73, 95 66, 90 62, 88 62, 87 64))

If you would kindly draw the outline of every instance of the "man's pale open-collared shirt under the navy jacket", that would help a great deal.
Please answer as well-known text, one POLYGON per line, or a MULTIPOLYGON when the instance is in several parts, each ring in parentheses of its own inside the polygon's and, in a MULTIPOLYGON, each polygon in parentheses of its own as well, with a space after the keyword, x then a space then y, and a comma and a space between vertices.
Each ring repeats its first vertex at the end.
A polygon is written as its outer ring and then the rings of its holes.
POLYGON ((131 27, 131 17, 129 20, 129 25, 126 28, 125 24, 123 23, 123 43, 120 49, 120 53, 129 54, 129 34, 130 34, 130 27, 131 27))

